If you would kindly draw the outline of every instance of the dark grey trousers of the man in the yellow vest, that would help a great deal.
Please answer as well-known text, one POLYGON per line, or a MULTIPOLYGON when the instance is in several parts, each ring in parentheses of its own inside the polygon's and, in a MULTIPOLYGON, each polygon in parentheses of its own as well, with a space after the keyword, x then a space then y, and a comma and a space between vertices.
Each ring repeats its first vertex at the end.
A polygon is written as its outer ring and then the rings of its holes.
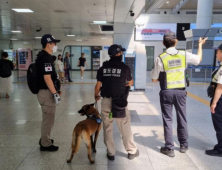
POLYGON ((177 136, 180 144, 188 147, 188 131, 186 120, 186 96, 185 90, 161 90, 160 105, 163 116, 165 147, 174 149, 173 144, 173 105, 177 115, 177 136))

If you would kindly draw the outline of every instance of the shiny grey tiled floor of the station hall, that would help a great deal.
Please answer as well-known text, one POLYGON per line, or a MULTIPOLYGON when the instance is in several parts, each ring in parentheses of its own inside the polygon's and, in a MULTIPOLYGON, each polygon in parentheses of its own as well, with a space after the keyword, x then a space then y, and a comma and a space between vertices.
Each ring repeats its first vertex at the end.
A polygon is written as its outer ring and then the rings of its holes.
MULTIPOLYGON (((56 121, 52 138, 59 151, 46 153, 39 151, 41 110, 35 95, 31 94, 24 72, 14 72, 14 92, 9 99, 0 98, 0 170, 185 170, 211 169, 221 170, 222 160, 209 157, 204 150, 211 149, 216 143, 208 106, 187 98, 187 119, 189 128, 189 151, 181 154, 178 151, 176 121, 174 121, 175 158, 159 153, 164 144, 162 118, 159 106, 159 87, 147 79, 145 92, 131 92, 129 110, 132 111, 132 130, 140 156, 132 161, 127 159, 121 136, 114 126, 116 160, 106 159, 106 147, 103 143, 103 132, 97 143, 97 153, 93 153, 95 164, 90 165, 86 147, 81 144, 79 152, 71 164, 66 160, 70 154, 72 131, 84 117, 77 114, 82 105, 92 103, 95 72, 86 72, 80 80, 79 72, 72 72, 73 84, 62 85, 62 103, 57 107, 56 121), (20 77, 20 78, 18 78, 20 77), (83 82, 83 84, 81 84, 83 82), (138 114, 138 115, 137 115, 138 114)), ((149 78, 149 77, 148 77, 149 78)), ((188 91, 209 100, 206 85, 193 85, 188 91)), ((175 115, 175 114, 174 114, 175 115)), ((176 120, 176 117, 174 117, 176 120)))

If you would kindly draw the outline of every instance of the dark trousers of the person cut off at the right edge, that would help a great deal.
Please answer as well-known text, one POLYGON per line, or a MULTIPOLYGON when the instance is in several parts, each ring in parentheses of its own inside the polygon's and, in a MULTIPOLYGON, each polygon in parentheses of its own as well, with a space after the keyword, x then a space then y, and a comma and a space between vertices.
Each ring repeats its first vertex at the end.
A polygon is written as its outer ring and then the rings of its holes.
MULTIPOLYGON (((211 100, 211 103, 212 101, 213 99, 211 100)), ((217 102, 215 113, 211 115, 218 142, 218 144, 214 146, 214 149, 222 152, 222 97, 217 102)))

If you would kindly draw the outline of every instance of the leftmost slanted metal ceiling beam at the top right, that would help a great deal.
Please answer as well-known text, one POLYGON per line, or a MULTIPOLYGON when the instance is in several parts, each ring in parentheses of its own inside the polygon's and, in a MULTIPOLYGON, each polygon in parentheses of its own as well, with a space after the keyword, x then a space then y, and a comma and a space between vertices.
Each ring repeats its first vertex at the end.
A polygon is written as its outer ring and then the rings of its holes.
POLYGON ((147 14, 152 14, 161 7, 167 0, 146 0, 145 10, 147 14))

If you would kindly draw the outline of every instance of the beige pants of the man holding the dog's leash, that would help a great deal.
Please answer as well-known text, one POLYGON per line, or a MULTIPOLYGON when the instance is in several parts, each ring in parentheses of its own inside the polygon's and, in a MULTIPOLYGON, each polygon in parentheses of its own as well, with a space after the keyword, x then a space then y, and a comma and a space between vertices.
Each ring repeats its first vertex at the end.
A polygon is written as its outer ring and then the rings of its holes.
POLYGON ((109 119, 109 113, 111 111, 110 98, 102 99, 101 110, 102 110, 102 120, 103 120, 104 143, 107 147, 108 154, 110 156, 113 156, 115 155, 115 152, 116 152, 115 144, 113 140, 113 120, 116 121, 116 124, 122 135, 123 145, 126 151, 130 154, 135 154, 137 151, 137 147, 134 143, 133 134, 131 130, 131 117, 129 114, 129 110, 126 108, 125 118, 109 119))

